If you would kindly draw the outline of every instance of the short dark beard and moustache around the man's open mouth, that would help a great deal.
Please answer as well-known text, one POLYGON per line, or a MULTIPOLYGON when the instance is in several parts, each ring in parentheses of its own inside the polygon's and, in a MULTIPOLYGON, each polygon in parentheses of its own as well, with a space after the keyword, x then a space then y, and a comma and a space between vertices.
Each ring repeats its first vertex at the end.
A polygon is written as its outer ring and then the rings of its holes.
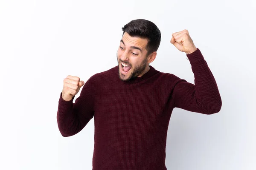
MULTIPOLYGON (((118 61, 118 57, 116 55, 117 58, 117 64, 119 65, 119 61, 118 61)), ((122 60, 120 60, 121 62, 122 60)), ((124 62, 125 64, 128 64, 131 66, 131 69, 133 68, 133 65, 131 65, 130 63, 124 62)), ((147 57, 143 60, 143 62, 140 65, 136 65, 133 69, 133 71, 131 72, 130 76, 127 79, 123 79, 121 76, 124 76, 122 73, 120 73, 120 68, 118 67, 118 75, 119 75, 119 79, 121 79, 122 81, 128 82, 136 77, 138 77, 139 75, 141 75, 143 73, 143 71, 145 70, 147 66, 147 57)), ((122 67, 122 66, 121 66, 122 67)))

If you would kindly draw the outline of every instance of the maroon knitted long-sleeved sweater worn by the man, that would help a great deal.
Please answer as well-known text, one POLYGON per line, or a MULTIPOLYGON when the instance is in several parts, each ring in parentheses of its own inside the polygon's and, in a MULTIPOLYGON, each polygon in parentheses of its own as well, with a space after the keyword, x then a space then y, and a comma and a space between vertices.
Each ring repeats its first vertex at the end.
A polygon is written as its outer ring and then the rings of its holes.
POLYGON ((93 170, 166 170, 173 108, 203 114, 221 109, 221 96, 201 51, 187 54, 195 85, 150 66, 142 77, 119 79, 118 66, 90 77, 73 103, 58 102, 61 135, 79 133, 94 116, 93 170))

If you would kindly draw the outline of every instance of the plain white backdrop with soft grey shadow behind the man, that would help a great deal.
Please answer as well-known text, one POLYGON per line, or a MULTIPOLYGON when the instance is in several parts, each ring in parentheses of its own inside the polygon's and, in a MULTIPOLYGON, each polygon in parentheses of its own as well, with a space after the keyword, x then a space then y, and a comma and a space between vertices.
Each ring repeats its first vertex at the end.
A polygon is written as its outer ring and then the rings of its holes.
POLYGON ((0 169, 92 169, 94 120, 74 136, 58 131, 63 79, 116 66, 121 28, 146 19, 162 34, 151 65, 194 83, 170 43, 187 29, 222 99, 213 115, 173 110, 167 169, 255 170, 255 11, 255 0, 0 0, 0 169))

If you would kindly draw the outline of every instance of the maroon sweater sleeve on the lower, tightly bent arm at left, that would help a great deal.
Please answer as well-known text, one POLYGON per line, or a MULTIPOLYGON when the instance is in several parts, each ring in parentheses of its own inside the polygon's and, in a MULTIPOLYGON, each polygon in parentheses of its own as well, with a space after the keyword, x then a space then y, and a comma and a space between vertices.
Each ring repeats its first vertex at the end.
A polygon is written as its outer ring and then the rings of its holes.
POLYGON ((84 84, 75 103, 73 103, 75 96, 70 101, 65 101, 61 97, 61 92, 58 101, 57 123, 62 136, 73 136, 79 133, 93 118, 93 92, 91 79, 84 84))

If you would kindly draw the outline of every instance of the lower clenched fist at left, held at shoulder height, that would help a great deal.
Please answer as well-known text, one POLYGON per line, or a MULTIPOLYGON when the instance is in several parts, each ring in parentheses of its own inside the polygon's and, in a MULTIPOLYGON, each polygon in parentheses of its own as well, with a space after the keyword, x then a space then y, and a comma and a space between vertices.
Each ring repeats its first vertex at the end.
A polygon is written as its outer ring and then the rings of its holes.
POLYGON ((84 85, 84 81, 80 81, 80 78, 75 76, 67 76, 63 82, 64 85, 61 97, 65 101, 70 101, 84 85))

